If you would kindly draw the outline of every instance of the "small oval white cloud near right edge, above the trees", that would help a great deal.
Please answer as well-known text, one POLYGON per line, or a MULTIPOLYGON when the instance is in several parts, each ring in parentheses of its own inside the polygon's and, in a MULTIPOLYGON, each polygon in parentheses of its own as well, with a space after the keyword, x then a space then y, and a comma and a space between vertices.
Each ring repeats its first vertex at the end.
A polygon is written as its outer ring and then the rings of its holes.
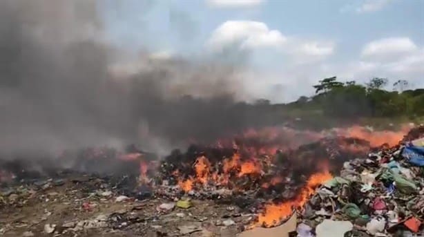
POLYGON ((392 37, 369 42, 362 50, 362 57, 374 59, 393 59, 413 53, 416 44, 407 37, 392 37))

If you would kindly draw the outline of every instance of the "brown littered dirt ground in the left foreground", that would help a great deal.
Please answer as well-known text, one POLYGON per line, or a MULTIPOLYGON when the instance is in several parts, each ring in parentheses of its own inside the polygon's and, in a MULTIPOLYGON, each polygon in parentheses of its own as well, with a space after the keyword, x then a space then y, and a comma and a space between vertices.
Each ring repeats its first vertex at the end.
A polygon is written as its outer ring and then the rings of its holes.
POLYGON ((118 202, 114 191, 89 186, 8 187, 1 196, 0 236, 235 236, 253 218, 211 200, 191 200, 187 209, 173 207, 176 199, 118 202), (168 207, 160 209, 164 203, 168 207))

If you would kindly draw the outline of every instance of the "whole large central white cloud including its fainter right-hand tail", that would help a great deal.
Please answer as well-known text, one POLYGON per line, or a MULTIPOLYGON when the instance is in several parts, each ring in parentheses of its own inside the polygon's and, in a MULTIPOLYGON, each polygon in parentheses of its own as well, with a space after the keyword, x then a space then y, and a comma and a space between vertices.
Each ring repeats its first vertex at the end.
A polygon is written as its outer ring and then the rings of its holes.
POLYGON ((324 59, 334 53, 332 42, 287 37, 259 21, 226 21, 213 31, 207 44, 218 51, 228 47, 235 50, 271 48, 291 57, 296 64, 324 59))

